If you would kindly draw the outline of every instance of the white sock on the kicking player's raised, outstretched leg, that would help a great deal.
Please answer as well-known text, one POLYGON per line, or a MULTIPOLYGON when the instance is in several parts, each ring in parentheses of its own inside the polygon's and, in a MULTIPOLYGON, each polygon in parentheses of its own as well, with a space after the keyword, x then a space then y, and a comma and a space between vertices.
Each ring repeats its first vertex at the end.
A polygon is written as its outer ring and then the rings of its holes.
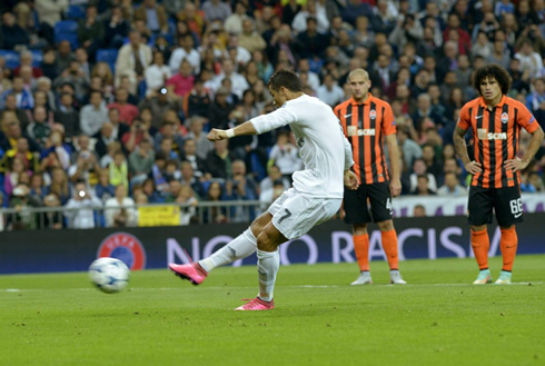
POLYGON ((251 228, 246 229, 221 249, 215 251, 208 258, 199 260, 199 265, 209 273, 210 270, 229 265, 237 259, 246 258, 257 249, 257 240, 251 228))

